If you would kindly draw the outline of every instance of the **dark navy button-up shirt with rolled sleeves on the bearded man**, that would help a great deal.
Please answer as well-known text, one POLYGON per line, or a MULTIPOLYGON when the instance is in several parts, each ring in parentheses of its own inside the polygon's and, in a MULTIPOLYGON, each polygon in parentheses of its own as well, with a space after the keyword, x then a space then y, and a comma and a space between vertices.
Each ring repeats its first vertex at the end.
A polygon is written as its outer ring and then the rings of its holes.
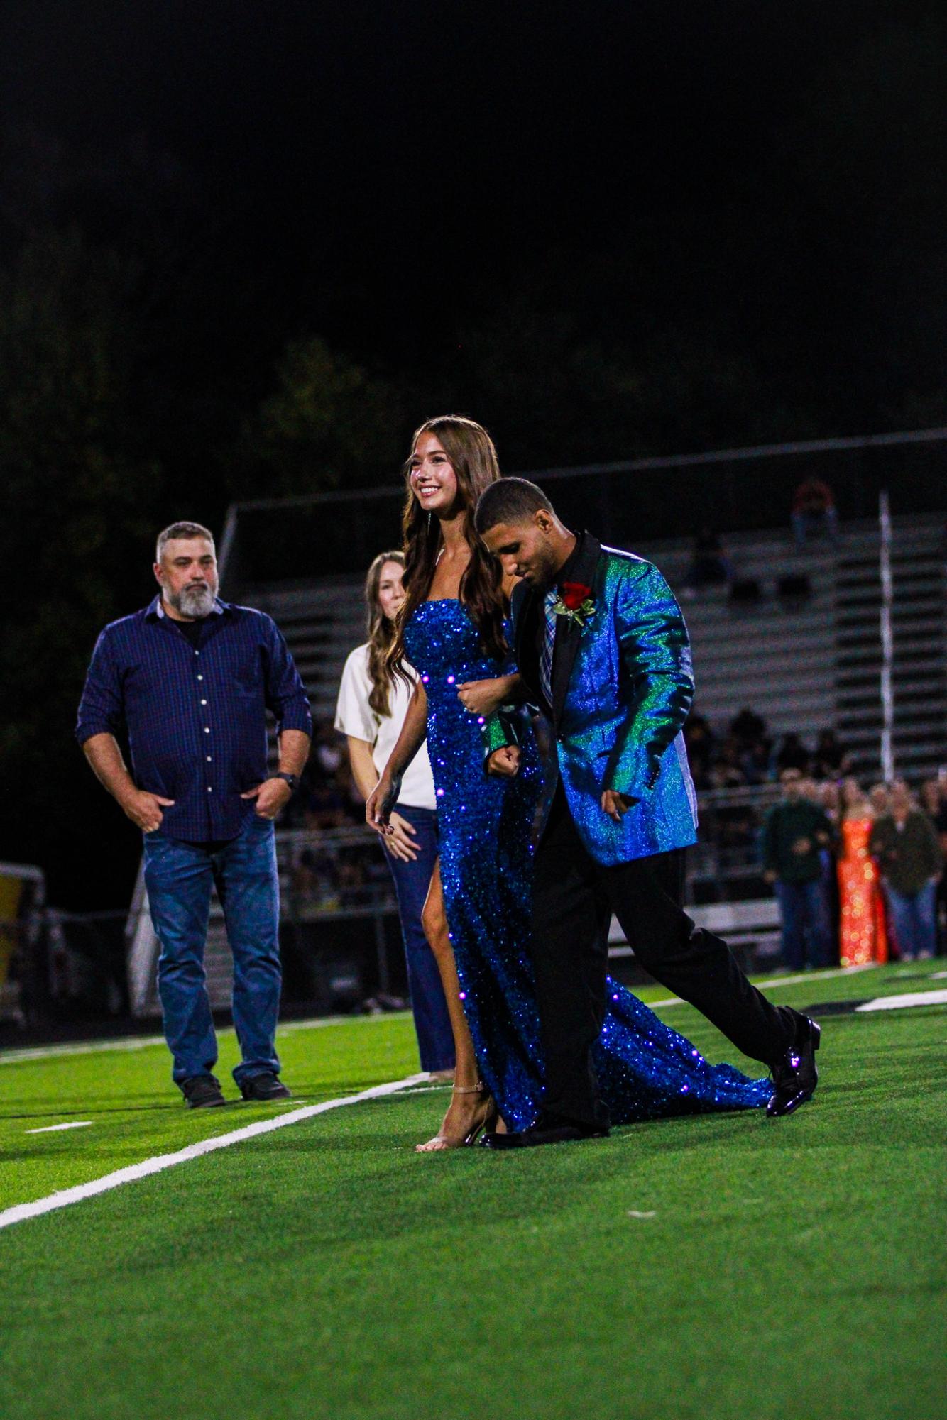
POLYGON ((312 734, 305 689, 275 622, 217 601, 197 646, 160 596, 112 622, 92 652, 75 737, 128 733, 139 788, 175 801, 159 832, 236 838, 254 812, 240 795, 267 777, 267 723, 312 734))

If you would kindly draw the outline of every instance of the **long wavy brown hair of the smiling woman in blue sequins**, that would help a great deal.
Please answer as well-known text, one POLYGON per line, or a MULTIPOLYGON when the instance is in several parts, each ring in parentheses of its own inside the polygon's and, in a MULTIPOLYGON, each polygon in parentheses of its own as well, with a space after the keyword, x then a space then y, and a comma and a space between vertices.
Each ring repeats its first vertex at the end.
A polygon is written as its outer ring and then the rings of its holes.
POLYGON ((487 656, 504 656, 507 643, 503 635, 505 599, 503 595, 503 569, 481 542, 474 528, 477 498, 500 477, 497 450, 493 439, 473 419, 463 415, 439 415, 427 419, 415 430, 410 453, 405 462, 405 511, 402 534, 405 540, 405 601, 398 613, 395 639, 388 653, 388 665, 395 674, 403 676, 405 626, 427 598, 434 578, 437 554, 443 538, 440 523, 425 513, 410 486, 410 462, 422 435, 434 435, 444 447, 457 479, 457 498, 464 510, 464 537, 470 548, 470 562, 460 579, 460 601, 480 632, 480 642, 487 656))

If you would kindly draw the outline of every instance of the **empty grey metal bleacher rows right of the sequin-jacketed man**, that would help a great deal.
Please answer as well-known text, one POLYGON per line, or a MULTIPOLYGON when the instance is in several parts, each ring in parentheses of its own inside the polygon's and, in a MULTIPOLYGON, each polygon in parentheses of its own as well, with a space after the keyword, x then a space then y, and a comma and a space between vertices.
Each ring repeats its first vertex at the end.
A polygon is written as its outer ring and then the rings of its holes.
MULTIPOLYGON (((683 595, 689 552, 640 548, 683 595)), ((788 531, 727 540, 735 575, 760 598, 734 602, 726 588, 683 595, 697 680, 696 704, 711 724, 744 706, 774 734, 811 738, 832 727, 859 774, 880 772, 880 571, 875 523, 843 525, 836 545, 798 551, 788 531), (808 578, 808 596, 779 595, 782 578, 808 578)), ((914 780, 947 758, 947 616, 943 520, 894 518, 894 760, 914 780)))

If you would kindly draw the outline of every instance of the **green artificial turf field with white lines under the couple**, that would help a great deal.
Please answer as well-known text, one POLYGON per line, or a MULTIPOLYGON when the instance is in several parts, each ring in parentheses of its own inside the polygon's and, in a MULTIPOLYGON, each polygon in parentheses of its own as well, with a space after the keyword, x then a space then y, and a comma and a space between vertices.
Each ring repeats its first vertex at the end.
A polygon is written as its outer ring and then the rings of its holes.
MULTIPOLYGON (((934 988, 934 970, 772 995, 934 988)), ((689 1007, 662 1014, 734 1058, 689 1007)), ((823 1031, 819 1091, 788 1120, 417 1156, 444 1095, 399 1095, 0 1231, 0 1414, 940 1417, 947 1011, 823 1031)), ((405 1020, 281 1048, 307 1102, 415 1068, 405 1020)), ((4 1065, 0 1092, 4 1204, 264 1113, 186 1113, 160 1047, 4 1065), (95 1123, 24 1133, 71 1116, 95 1123)))

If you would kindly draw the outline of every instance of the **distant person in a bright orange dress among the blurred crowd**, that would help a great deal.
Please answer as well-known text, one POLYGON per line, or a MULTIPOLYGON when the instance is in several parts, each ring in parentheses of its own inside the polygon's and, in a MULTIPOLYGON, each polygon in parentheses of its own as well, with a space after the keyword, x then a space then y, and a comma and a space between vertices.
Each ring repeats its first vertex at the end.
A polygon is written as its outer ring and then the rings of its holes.
POLYGON ((885 899, 869 852, 875 812, 858 780, 842 784, 839 824, 839 961, 843 967, 887 961, 885 899))

